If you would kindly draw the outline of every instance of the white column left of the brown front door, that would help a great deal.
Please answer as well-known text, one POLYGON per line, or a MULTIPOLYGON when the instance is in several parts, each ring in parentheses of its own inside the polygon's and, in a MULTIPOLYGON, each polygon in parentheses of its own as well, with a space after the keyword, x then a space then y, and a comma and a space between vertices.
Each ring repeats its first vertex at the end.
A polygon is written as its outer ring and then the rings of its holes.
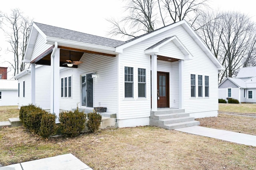
POLYGON ((157 55, 151 55, 152 111, 157 111, 157 55))

